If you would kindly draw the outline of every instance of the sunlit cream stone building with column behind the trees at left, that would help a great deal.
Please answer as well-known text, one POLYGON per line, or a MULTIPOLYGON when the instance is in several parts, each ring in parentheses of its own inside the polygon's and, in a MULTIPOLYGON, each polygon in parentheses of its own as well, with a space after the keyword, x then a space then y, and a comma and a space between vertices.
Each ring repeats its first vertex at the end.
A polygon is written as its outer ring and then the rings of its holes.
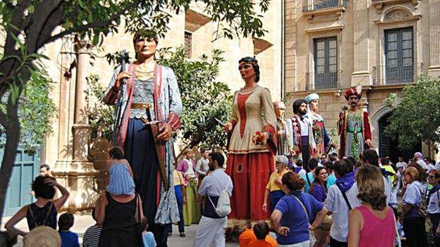
MULTIPOLYGON (((158 48, 184 45, 188 59, 196 59, 203 53, 210 54, 213 48, 223 50, 225 61, 220 63, 217 79, 227 83, 231 92, 244 85, 237 71, 238 60, 255 55, 261 71, 260 85, 269 88, 273 99, 279 100, 282 79, 281 6, 280 1, 272 1, 268 11, 263 13, 263 25, 267 30, 264 37, 235 37, 229 40, 215 39, 217 23, 203 13, 202 6, 193 3, 186 12, 172 16, 169 31, 164 39, 159 39, 158 48)), ((40 163, 49 164, 53 174, 70 191, 67 205, 70 211, 93 206, 96 198, 95 176, 102 170, 106 159, 105 152, 90 150, 88 143, 86 77, 92 73, 97 74, 100 82, 106 86, 113 67, 103 55, 121 49, 126 49, 130 57, 134 57, 132 36, 124 33, 123 27, 119 33, 105 37, 99 48, 89 47, 87 43, 69 37, 42 50, 50 58, 45 66, 56 82, 50 97, 58 108, 58 118, 54 120, 53 134, 45 140, 40 163), (91 162, 90 157, 94 158, 94 162, 91 162)), ((97 145, 105 150, 109 144, 99 142, 97 145)))

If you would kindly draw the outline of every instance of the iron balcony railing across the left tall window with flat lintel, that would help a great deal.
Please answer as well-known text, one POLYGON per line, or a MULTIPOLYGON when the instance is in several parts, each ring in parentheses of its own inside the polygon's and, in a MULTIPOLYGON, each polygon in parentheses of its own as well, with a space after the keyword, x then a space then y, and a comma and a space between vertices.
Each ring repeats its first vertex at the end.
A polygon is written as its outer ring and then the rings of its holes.
POLYGON ((305 73, 305 90, 339 88, 341 74, 341 70, 322 73, 307 72, 305 73))

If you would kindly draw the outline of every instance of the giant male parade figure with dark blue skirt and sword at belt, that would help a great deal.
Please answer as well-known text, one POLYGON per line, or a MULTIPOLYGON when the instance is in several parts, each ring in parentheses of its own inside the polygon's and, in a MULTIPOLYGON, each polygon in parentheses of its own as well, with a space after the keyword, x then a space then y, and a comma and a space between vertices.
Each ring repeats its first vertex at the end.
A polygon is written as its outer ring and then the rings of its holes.
POLYGON ((143 214, 157 246, 164 247, 170 224, 179 221, 172 133, 180 127, 182 104, 174 72, 154 59, 157 42, 134 35, 136 60, 114 70, 105 102, 117 104, 113 142, 124 149, 143 214))

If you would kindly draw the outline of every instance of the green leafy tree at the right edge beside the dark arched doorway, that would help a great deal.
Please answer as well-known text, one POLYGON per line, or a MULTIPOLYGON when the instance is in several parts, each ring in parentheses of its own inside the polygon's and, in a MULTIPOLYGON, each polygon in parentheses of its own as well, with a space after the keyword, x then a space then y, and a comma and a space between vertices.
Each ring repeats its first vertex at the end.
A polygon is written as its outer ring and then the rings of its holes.
POLYGON ((409 150, 420 140, 427 144, 440 142, 439 99, 440 79, 428 76, 420 76, 417 83, 406 85, 398 96, 388 95, 385 104, 394 111, 385 134, 397 138, 400 150, 409 150))

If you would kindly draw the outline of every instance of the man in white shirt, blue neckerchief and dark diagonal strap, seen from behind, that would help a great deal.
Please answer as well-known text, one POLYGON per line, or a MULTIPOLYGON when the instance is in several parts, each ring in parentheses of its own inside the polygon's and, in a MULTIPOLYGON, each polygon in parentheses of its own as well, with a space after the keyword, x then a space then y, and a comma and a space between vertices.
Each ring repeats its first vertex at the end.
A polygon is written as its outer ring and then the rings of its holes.
POLYGON ((335 163, 336 184, 328 188, 325 208, 331 215, 330 247, 348 246, 348 212, 360 205, 351 166, 346 160, 335 163), (344 195, 346 196, 346 200, 344 195))

